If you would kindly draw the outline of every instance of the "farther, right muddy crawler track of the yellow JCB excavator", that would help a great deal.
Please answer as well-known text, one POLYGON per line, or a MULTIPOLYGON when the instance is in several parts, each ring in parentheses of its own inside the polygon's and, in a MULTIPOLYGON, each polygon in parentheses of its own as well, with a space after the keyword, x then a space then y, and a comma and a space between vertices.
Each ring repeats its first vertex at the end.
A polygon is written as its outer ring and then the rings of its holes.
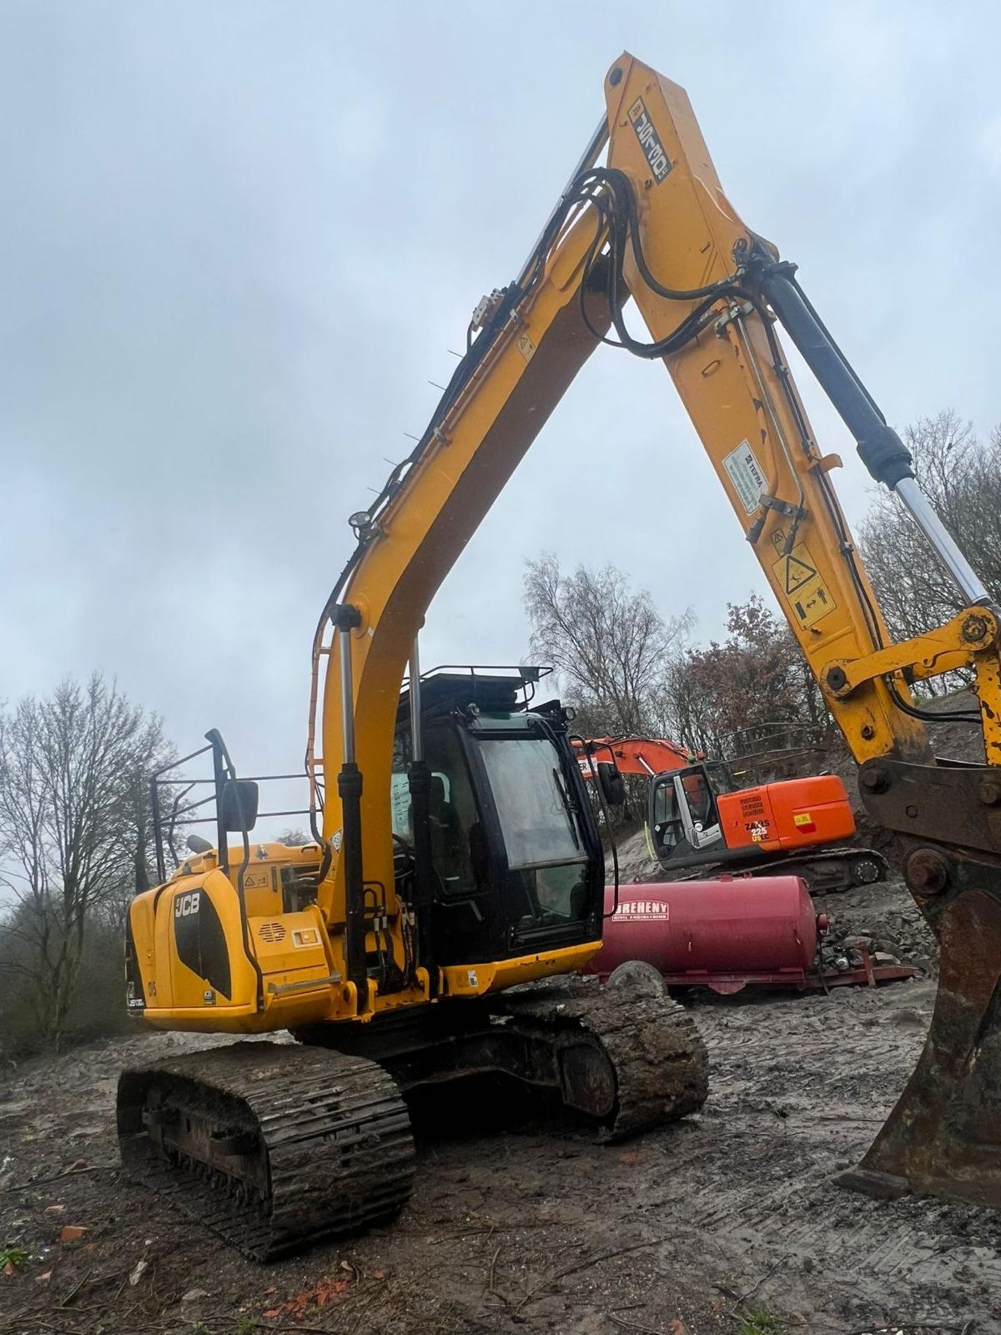
POLYGON ((565 1101, 599 1119, 602 1140, 677 1121, 698 1112, 709 1095, 706 1045, 649 964, 622 964, 605 985, 559 977, 515 988, 494 1013, 510 1017, 526 1035, 549 1037, 561 1059, 565 1101), (594 1057, 581 1060, 589 1048, 594 1057))

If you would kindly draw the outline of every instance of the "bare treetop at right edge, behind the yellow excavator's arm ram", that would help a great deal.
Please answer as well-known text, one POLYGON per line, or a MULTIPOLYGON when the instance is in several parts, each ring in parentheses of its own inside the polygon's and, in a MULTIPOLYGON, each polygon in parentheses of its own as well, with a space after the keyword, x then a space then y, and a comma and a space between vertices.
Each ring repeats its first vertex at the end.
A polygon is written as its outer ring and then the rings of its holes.
MULTIPOLYGON (((948 409, 920 418, 908 429, 906 438, 922 491, 997 595, 1001 593, 1001 429, 996 427, 989 441, 978 441, 972 425, 948 409)), ((894 637, 918 635, 965 606, 892 493, 877 491, 858 538, 894 637)))

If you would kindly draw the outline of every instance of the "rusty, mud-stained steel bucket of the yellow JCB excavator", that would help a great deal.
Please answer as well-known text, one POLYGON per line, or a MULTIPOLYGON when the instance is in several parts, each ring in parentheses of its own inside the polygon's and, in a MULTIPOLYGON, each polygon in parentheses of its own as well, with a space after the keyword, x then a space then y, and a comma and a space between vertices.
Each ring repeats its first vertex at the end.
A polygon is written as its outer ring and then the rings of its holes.
MULTIPOLYGON (((994 869, 977 868, 997 876, 994 869)), ((916 896, 917 897, 917 896, 916 896)), ((918 898, 918 904, 926 908, 918 898)), ((1001 1208, 1001 900, 968 889, 928 913, 940 940, 932 1028, 896 1108, 840 1185, 1001 1208)))

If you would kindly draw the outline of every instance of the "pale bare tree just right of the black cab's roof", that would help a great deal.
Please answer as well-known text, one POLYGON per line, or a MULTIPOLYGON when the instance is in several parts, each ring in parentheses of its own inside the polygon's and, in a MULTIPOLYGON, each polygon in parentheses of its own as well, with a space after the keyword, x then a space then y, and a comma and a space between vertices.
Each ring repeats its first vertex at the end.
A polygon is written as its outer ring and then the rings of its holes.
POLYGON ((669 662, 691 622, 665 621, 645 590, 633 593, 615 566, 565 575, 553 553, 527 562, 525 605, 531 653, 559 673, 567 701, 591 733, 654 728, 669 662))

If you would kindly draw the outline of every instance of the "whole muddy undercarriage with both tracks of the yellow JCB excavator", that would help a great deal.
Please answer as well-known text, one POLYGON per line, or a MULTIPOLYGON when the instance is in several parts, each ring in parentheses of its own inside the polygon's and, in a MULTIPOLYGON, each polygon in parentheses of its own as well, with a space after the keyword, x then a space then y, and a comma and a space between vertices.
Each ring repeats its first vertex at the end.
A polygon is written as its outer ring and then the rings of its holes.
POLYGON ((602 1140, 698 1112, 709 1092, 705 1044, 647 964, 623 964, 605 985, 559 977, 430 1009, 423 1032, 311 1027, 302 1047, 236 1043, 123 1071, 127 1169, 246 1256, 272 1260, 386 1223, 407 1202, 402 1089, 503 1072, 557 1091, 602 1140), (366 1041, 379 1060, 338 1041, 366 1041))

